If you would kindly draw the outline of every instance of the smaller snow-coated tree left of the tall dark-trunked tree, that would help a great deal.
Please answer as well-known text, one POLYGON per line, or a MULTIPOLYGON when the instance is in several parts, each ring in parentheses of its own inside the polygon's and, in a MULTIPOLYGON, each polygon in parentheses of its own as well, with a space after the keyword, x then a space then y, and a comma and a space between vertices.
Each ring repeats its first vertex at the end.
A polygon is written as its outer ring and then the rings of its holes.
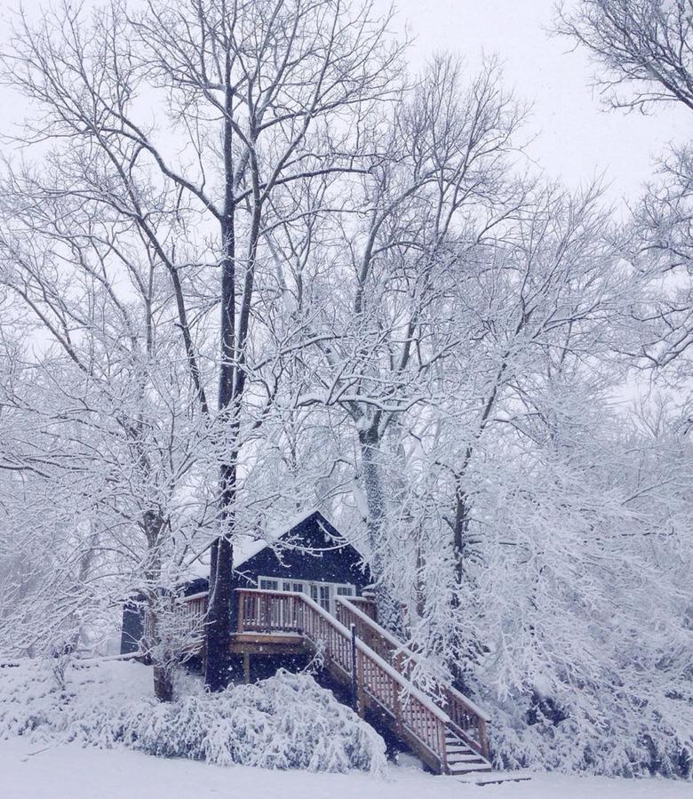
MULTIPOLYGON (((163 269, 131 222, 28 172, 7 175, 0 255, 5 324, 26 336, 0 399, 14 422, 0 468, 51 486, 47 499, 64 502, 59 579, 98 584, 89 573, 98 559, 120 575, 120 587, 108 580, 111 602, 134 591, 154 603, 214 517, 199 471, 211 457, 210 431, 166 321, 163 269), (116 552, 117 560, 102 556, 116 552)), ((39 507, 50 527, 55 512, 39 507)), ((155 685, 170 698, 157 662, 155 685)))

